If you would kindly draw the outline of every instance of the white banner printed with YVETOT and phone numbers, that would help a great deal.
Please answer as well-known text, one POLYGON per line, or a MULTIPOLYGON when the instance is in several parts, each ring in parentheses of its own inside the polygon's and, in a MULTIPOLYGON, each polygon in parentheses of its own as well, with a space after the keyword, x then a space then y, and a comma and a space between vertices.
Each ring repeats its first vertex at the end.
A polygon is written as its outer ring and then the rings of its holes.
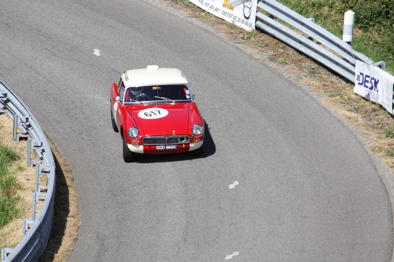
POLYGON ((234 25, 255 29, 257 0, 190 0, 201 9, 234 25))

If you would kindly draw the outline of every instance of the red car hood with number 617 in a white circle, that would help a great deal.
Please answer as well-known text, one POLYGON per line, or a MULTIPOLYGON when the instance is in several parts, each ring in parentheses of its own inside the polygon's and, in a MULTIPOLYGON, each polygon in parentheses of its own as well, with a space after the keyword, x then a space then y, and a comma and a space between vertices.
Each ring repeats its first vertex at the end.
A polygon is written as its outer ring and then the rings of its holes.
POLYGON ((190 106, 179 103, 174 105, 149 105, 129 109, 142 129, 143 136, 188 135, 190 106))

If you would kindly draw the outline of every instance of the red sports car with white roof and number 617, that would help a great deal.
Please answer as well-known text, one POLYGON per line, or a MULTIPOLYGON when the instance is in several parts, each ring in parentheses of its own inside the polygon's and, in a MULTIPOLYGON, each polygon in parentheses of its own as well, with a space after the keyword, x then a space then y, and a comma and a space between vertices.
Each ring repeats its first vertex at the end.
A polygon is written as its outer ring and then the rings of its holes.
POLYGON ((123 159, 139 154, 203 152, 204 119, 181 71, 149 65, 124 71, 111 87, 112 128, 123 139, 123 159))

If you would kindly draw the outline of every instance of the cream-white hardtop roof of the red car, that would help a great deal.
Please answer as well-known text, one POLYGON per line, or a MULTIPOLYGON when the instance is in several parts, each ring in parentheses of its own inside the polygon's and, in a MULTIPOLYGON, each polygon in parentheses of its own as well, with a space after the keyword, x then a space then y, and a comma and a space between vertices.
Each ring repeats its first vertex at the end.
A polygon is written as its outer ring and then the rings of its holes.
POLYGON ((183 73, 175 68, 159 68, 157 65, 148 65, 143 69, 128 70, 122 74, 125 87, 189 84, 183 73))

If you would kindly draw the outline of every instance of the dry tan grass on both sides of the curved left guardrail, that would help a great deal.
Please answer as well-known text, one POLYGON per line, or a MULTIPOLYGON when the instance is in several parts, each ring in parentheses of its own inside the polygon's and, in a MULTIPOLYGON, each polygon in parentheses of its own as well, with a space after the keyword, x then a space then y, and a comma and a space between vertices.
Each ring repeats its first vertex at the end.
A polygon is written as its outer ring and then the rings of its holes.
MULTIPOLYGON (((0 245, 14 248, 22 239, 23 219, 32 218, 32 198, 34 191, 35 169, 27 168, 27 141, 18 143, 12 140, 13 122, 6 114, 0 115, 0 141, 18 152, 21 159, 13 163, 11 170, 20 184, 17 194, 21 196, 24 215, 14 219, 0 230, 0 245)), ((70 255, 80 225, 78 197, 73 185, 73 177, 66 160, 56 147, 50 143, 56 164, 55 215, 50 238, 40 261, 66 261, 70 255)), ((46 184, 46 177, 40 175, 39 183, 46 184)), ((36 205, 36 212, 43 204, 36 205)))

